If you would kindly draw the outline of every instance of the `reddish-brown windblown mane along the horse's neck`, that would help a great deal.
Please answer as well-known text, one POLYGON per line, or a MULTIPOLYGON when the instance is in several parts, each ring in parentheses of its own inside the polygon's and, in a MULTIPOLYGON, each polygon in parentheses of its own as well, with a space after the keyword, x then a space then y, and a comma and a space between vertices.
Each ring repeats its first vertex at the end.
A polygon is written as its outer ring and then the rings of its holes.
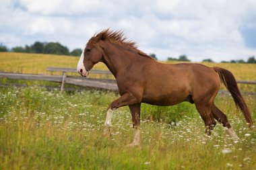
POLYGON ((122 46, 135 50, 135 52, 137 52, 137 54, 141 56, 146 56, 154 60, 154 58, 152 58, 145 52, 142 52, 141 50, 137 49, 136 42, 132 40, 127 40, 127 38, 123 34, 123 31, 113 31, 108 28, 106 30, 103 30, 102 32, 96 33, 94 35, 94 38, 97 38, 97 39, 99 38, 100 40, 109 40, 110 42, 121 44, 122 46))

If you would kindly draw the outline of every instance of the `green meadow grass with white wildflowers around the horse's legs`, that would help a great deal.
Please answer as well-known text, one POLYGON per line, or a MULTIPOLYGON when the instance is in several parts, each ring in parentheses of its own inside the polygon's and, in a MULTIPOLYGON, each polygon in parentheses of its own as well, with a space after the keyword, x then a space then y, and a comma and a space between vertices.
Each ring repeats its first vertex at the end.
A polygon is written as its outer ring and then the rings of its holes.
MULTIPOLYGON (((230 96, 219 95, 216 104, 242 142, 233 142, 220 124, 211 138, 204 137, 190 103, 143 104, 139 148, 125 148, 133 136, 127 107, 115 110, 112 137, 102 136, 106 108, 117 97, 1 87, 0 169, 256 169, 256 132, 236 115, 230 96)), ((256 122, 255 96, 245 99, 256 122)))

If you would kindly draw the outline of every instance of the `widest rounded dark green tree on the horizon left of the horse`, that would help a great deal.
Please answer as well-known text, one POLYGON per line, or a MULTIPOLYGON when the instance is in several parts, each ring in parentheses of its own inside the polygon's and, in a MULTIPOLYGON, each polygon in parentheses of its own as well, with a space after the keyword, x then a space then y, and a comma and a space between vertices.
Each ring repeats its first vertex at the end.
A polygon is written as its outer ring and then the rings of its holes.
POLYGON ((59 42, 49 42, 44 46, 45 54, 69 55, 69 49, 62 46, 59 42))

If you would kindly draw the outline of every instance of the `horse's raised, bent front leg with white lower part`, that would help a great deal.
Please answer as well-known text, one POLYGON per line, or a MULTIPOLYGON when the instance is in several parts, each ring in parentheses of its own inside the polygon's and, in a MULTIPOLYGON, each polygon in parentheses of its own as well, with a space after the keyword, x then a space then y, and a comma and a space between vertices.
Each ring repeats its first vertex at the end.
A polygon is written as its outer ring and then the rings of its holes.
POLYGON ((106 120, 103 130, 104 136, 110 136, 110 126, 112 126, 111 120, 113 116, 113 110, 125 105, 133 105, 135 103, 137 103, 137 99, 129 92, 124 93, 123 95, 121 95, 121 97, 110 103, 110 105, 108 106, 108 112, 106 112, 106 120))

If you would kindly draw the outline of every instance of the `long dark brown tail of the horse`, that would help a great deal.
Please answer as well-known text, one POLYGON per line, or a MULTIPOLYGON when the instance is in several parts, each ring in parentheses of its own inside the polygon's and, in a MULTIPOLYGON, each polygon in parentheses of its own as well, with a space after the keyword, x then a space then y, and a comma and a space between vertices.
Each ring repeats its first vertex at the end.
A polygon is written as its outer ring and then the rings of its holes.
POLYGON ((240 110, 243 112, 243 115, 245 116, 245 120, 247 121, 247 124, 250 128, 253 128, 253 120, 251 119, 251 112, 249 108, 247 107, 247 104, 245 103, 245 100, 243 99, 243 96, 241 95, 236 79, 234 79, 234 75, 226 69, 222 69, 220 67, 213 67, 214 70, 218 73, 220 76, 220 80, 222 83, 224 83, 225 87, 228 89, 230 94, 232 95, 234 99, 234 103, 236 104, 236 110, 240 108, 240 110))

